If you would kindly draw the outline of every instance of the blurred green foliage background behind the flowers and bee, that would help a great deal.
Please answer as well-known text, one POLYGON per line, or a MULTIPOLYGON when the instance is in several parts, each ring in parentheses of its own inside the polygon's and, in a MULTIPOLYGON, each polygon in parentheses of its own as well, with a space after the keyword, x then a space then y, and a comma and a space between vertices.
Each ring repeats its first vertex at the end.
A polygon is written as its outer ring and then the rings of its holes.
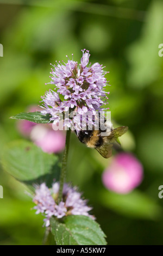
MULTIPOLYGON (((71 138, 68 180, 78 185, 109 245, 162 245, 163 199, 163 2, 158 0, 0 0, 1 154, 21 138, 11 115, 38 105, 50 88, 55 60, 74 60, 90 50, 90 61, 110 71, 109 107, 118 125, 129 126, 124 150, 142 162, 144 179, 130 194, 107 191, 101 181, 110 160, 71 138)), ((122 140, 122 142, 123 142, 122 140)), ((26 187, 0 166, 0 244, 39 245, 43 217, 31 210, 26 187)))

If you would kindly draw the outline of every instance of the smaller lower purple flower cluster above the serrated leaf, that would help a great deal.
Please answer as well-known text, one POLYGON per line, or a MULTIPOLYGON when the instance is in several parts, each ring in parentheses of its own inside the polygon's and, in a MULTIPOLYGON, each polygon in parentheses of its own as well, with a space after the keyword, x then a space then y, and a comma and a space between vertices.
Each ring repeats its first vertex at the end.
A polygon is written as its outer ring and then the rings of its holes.
POLYGON ((56 203, 58 192, 59 182, 55 182, 52 188, 48 188, 45 183, 36 186, 33 198, 33 202, 36 204, 34 209, 36 209, 36 214, 45 215, 43 221, 45 221, 46 227, 49 226, 52 216, 62 218, 67 215, 84 215, 95 220, 95 217, 88 213, 92 208, 86 205, 87 201, 81 198, 82 194, 77 191, 76 187, 64 184, 63 199, 59 204, 56 203))

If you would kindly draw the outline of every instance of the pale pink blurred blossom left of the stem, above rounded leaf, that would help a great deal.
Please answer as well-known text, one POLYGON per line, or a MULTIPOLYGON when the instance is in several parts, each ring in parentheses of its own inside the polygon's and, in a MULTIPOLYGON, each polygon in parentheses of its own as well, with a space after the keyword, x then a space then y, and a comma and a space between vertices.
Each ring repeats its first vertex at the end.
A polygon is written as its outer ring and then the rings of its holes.
POLYGON ((37 124, 30 133, 32 141, 46 153, 59 153, 65 148, 65 133, 54 131, 52 126, 37 124), (49 126, 49 127, 48 127, 49 126))

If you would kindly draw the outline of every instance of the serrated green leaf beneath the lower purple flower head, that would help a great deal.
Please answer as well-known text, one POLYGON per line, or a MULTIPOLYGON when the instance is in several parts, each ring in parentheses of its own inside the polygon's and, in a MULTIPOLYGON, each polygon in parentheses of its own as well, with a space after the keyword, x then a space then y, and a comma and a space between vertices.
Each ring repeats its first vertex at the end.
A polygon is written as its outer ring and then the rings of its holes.
POLYGON ((57 245, 106 245, 99 224, 87 216, 67 216, 64 223, 51 218, 51 227, 57 245))

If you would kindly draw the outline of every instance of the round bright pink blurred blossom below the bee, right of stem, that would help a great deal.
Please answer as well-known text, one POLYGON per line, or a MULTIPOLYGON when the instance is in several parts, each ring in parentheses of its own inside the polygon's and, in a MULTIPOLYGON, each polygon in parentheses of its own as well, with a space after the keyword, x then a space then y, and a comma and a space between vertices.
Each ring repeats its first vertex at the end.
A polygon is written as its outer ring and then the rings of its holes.
POLYGON ((143 167, 135 156, 119 153, 102 176, 103 184, 116 193, 129 193, 141 184, 143 167))

